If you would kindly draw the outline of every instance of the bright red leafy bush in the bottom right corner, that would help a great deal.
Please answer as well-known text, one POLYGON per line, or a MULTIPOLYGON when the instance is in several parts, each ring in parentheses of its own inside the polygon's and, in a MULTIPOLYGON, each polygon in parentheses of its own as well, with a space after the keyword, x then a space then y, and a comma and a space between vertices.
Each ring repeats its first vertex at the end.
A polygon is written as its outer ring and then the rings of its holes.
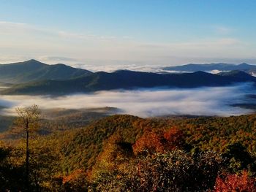
POLYGON ((215 192, 227 192, 227 191, 256 191, 256 180, 253 177, 249 177, 248 172, 243 171, 240 175, 229 174, 225 179, 217 177, 215 192))

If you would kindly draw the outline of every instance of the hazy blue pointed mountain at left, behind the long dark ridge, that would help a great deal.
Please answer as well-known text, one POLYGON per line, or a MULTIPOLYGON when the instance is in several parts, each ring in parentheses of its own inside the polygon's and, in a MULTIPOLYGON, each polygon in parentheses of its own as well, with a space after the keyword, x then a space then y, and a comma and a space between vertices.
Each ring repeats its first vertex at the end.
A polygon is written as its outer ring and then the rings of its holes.
POLYGON ((0 81, 9 83, 67 80, 88 74, 92 74, 92 72, 85 69, 75 69, 64 64, 43 64, 34 59, 20 63, 0 65, 0 81))

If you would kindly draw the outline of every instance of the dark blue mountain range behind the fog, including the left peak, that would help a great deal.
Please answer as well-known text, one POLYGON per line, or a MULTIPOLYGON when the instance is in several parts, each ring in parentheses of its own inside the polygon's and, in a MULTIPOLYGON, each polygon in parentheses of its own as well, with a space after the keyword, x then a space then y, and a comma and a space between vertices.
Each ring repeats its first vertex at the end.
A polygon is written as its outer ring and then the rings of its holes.
MULTIPOLYGON (((247 64, 241 64, 240 69, 245 65, 247 66, 247 64)), ((0 65, 0 81, 16 83, 16 85, 1 91, 2 94, 64 95, 116 89, 225 86, 236 82, 256 82, 256 77, 238 70, 219 74, 207 72, 157 74, 128 70, 93 73, 63 64, 47 65, 30 60, 23 63, 0 65), (3 71, 6 72, 5 76, 3 71)))

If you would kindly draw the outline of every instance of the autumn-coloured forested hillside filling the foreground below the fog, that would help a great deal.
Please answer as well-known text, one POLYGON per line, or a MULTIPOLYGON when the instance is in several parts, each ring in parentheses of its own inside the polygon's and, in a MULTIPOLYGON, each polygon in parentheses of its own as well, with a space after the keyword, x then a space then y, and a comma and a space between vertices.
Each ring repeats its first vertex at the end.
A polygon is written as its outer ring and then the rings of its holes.
MULTIPOLYGON (((44 126, 50 130, 52 125, 44 126)), ((146 119, 113 115, 88 126, 67 124, 31 138, 29 188, 254 191, 255 133, 256 115, 146 119)), ((1 144, 1 190, 26 188, 23 145, 23 139, 1 144)))

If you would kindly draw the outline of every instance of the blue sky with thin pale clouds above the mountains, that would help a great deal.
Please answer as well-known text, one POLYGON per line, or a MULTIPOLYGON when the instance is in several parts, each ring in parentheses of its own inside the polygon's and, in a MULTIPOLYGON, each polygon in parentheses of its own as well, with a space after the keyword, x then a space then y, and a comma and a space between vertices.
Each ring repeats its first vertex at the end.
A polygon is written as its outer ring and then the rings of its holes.
POLYGON ((255 0, 0 0, 0 64, 256 64, 255 0))

